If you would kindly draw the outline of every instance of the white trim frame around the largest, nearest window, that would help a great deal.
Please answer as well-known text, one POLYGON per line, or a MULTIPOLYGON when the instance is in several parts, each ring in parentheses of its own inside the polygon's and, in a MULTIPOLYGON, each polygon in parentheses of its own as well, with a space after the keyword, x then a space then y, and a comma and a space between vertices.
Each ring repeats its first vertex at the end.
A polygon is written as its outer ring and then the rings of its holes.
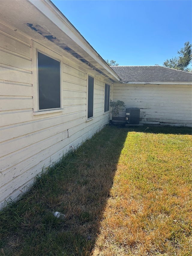
POLYGON ((63 61, 62 56, 54 51, 44 47, 41 44, 32 40, 32 74, 33 74, 33 115, 42 115, 47 113, 55 113, 63 111, 63 61), (56 59, 60 62, 60 93, 61 93, 61 108, 50 110, 39 110, 39 94, 38 94, 38 58, 37 53, 41 52, 52 59, 56 59))

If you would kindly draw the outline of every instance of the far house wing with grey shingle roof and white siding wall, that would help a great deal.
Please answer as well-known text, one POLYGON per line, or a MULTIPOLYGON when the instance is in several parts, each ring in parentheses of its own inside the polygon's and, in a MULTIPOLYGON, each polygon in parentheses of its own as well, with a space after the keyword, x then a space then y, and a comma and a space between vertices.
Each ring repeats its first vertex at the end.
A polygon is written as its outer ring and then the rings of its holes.
POLYGON ((122 79, 113 86, 113 100, 140 108, 140 122, 191 126, 191 73, 161 66, 111 68, 122 79))

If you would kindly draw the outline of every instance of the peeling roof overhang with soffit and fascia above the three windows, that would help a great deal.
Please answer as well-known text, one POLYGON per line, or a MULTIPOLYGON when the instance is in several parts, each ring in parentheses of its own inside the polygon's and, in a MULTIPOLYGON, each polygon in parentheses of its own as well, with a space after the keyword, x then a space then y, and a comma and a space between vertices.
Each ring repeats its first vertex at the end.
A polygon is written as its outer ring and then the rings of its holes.
POLYGON ((51 1, 1 0, 0 19, 48 47, 56 45, 63 55, 67 53, 79 59, 104 75, 106 80, 121 81, 51 1))

